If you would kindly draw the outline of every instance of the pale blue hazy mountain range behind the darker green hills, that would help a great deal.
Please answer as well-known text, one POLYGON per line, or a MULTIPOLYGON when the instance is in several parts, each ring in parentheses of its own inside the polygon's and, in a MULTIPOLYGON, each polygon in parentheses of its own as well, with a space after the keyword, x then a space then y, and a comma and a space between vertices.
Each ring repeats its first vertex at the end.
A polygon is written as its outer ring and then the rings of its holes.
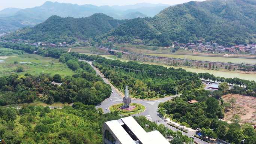
POLYGON ((139 3, 126 6, 94 6, 91 4, 77 5, 58 2, 45 2, 42 6, 17 9, 7 8, 0 11, 0 33, 17 30, 18 28, 34 26, 52 15, 61 17, 82 18, 94 13, 104 13, 115 19, 133 19, 153 17, 167 4, 139 3))

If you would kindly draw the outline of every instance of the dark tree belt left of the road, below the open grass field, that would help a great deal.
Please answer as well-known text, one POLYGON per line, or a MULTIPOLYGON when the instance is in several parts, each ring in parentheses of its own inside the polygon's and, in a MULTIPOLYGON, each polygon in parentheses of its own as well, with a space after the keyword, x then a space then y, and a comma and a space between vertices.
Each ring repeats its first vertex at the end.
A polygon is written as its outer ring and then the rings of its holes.
MULTIPOLYGON (((70 56, 72 58, 72 56, 70 56)), ((3 95, 0 105, 31 103, 34 100, 47 104, 53 102, 73 103, 80 101, 84 104, 100 104, 111 94, 111 88, 96 75, 87 62, 77 59, 67 61, 68 67, 76 70, 73 76, 61 77, 59 74, 39 74, 31 76, 10 75, 0 77, 0 91, 3 95), (52 84, 56 82, 59 84, 52 84)))

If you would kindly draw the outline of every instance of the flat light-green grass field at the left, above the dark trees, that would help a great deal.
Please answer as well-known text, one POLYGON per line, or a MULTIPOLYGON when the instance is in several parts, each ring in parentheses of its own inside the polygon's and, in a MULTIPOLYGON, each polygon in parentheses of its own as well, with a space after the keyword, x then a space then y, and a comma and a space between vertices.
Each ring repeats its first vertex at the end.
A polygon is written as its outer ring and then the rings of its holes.
MULTIPOLYGON (((0 48, 0 50, 1 49, 2 48, 0 48)), ((61 76, 74 74, 66 64, 62 64, 58 59, 54 58, 28 53, 0 56, 0 76, 10 74, 24 75, 25 73, 51 73, 51 75, 60 74, 61 76), (14 64, 14 62, 16 62, 16 64, 14 64), (18 66, 24 67, 24 72, 17 73, 16 68, 18 66)))

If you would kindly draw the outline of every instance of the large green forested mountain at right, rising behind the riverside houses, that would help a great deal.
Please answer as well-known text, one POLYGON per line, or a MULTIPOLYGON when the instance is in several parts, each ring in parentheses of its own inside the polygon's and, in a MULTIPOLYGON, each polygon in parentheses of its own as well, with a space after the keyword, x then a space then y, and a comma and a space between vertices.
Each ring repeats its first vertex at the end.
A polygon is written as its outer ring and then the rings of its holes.
POLYGON ((131 30, 137 29, 137 21, 141 19, 130 20, 109 35, 118 37, 116 41, 125 41, 127 37, 133 36, 148 41, 146 44, 159 44, 160 39, 156 37, 159 34, 182 43, 203 38, 221 45, 245 44, 255 42, 256 2, 210 0, 178 4, 162 10, 153 18, 144 19, 145 30, 134 33, 131 30), (120 33, 120 29, 124 33, 120 33), (156 32, 152 34, 152 31, 156 32))

